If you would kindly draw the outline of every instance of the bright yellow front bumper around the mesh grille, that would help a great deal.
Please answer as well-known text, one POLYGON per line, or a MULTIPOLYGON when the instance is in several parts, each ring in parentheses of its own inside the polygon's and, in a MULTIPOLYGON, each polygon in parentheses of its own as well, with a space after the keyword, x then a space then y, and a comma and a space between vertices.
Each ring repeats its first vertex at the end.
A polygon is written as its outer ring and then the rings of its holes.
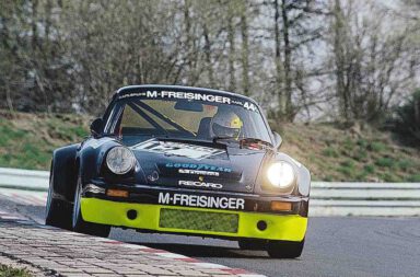
POLYGON ((81 199, 82 217, 85 221, 109 224, 115 227, 127 227, 135 229, 147 229, 158 232, 172 232, 185 234, 220 235, 229 238, 254 238, 283 241, 302 241, 306 233, 307 218, 299 215, 272 215, 257 213, 236 210, 217 210, 202 208, 187 208, 165 205, 148 205, 136 203, 119 203, 97 198, 81 199), (236 213, 238 216, 237 232, 214 232, 205 230, 190 230, 160 227, 161 209, 211 211, 221 213, 236 213), (127 211, 136 210, 137 218, 131 220, 127 211), (258 230, 258 221, 267 222, 264 231, 258 230))

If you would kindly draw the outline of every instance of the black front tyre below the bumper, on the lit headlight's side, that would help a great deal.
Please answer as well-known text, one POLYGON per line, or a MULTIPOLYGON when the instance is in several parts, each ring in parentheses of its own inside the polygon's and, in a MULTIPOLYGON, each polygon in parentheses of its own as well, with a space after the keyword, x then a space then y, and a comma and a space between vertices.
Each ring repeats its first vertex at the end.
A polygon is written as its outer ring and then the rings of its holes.
POLYGON ((301 242, 269 241, 267 252, 275 258, 295 258, 301 256, 305 240, 301 242))

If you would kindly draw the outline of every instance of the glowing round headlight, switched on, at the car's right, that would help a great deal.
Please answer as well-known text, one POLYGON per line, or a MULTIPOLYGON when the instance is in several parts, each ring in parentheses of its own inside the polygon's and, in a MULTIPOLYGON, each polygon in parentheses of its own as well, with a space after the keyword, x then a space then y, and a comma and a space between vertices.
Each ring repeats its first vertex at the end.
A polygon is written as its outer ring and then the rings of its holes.
POLYGON ((276 162, 268 168, 267 178, 271 185, 285 188, 294 184, 296 178, 293 166, 288 162, 276 162))

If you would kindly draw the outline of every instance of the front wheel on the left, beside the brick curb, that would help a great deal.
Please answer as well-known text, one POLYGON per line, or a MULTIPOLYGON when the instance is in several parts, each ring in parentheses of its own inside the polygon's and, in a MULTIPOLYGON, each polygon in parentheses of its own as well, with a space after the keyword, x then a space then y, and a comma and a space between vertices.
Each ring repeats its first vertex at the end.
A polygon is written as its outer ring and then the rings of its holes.
POLYGON ((86 222, 82 218, 82 211, 80 208, 80 198, 82 196, 82 178, 79 172, 78 183, 74 192, 73 213, 72 213, 72 229, 79 233, 92 234, 106 238, 109 235, 110 227, 105 224, 97 224, 86 222))

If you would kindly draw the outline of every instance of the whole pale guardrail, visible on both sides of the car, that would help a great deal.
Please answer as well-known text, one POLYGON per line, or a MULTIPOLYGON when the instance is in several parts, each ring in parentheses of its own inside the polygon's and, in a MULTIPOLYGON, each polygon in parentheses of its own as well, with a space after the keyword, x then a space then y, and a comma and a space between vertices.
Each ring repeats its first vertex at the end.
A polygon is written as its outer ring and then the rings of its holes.
MULTIPOLYGON (((0 187, 46 192, 49 172, 0 168, 0 187)), ((311 216, 420 216, 420 183, 313 182, 311 216)))

